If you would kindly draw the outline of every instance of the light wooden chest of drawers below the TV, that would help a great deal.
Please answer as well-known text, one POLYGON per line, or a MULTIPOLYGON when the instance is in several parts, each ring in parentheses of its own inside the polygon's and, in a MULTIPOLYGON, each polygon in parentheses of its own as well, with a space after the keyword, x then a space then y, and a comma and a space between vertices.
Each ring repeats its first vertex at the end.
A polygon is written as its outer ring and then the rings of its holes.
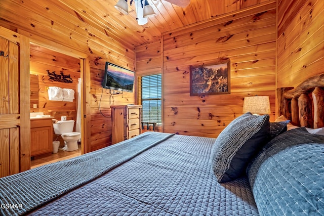
POLYGON ((120 105, 111 108, 111 144, 131 139, 142 133, 142 106, 120 105))

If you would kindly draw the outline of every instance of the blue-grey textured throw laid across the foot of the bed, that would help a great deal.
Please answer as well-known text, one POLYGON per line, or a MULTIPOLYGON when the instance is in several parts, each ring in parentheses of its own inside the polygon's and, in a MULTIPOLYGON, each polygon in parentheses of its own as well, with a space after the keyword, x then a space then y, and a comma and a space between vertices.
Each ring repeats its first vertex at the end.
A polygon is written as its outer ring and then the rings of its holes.
POLYGON ((0 215, 22 215, 42 206, 172 136, 145 133, 132 141, 1 178, 0 215))

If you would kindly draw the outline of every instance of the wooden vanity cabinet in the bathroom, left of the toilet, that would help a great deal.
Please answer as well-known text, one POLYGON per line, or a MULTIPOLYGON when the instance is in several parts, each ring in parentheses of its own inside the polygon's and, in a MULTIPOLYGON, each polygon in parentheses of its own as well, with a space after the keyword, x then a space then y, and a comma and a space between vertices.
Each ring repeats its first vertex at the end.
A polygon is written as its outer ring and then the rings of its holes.
POLYGON ((30 156, 53 151, 52 118, 30 119, 30 156))

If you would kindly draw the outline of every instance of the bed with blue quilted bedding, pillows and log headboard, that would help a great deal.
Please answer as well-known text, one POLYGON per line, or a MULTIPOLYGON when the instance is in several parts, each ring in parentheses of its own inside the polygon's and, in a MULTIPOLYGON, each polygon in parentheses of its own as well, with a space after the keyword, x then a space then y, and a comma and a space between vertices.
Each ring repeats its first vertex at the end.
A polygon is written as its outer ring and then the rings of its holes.
MULTIPOLYGON (((146 132, 1 178, 0 214, 324 215, 321 124, 291 127, 291 91, 277 91, 276 122, 245 113, 217 139, 146 132)), ((321 100, 307 102, 310 122, 321 100)))

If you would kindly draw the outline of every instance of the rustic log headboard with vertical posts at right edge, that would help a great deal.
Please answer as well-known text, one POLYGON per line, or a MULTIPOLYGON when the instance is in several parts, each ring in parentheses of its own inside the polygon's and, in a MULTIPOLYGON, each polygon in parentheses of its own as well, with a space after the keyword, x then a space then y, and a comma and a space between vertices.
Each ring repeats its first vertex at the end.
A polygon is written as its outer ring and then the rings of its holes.
POLYGON ((277 114, 296 126, 324 127, 324 74, 306 79, 296 88, 277 89, 277 114))

